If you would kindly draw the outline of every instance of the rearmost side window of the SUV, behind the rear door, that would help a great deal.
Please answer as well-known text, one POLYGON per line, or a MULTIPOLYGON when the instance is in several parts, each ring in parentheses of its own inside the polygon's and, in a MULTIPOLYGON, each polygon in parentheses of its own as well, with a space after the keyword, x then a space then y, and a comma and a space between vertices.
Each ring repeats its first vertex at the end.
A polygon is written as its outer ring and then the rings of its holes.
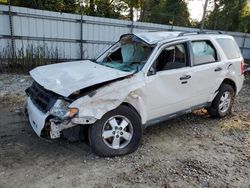
POLYGON ((219 38, 216 39, 216 41, 219 43, 221 48, 223 49, 225 55, 228 59, 236 59, 239 58, 240 50, 237 46, 237 44, 230 38, 219 38))

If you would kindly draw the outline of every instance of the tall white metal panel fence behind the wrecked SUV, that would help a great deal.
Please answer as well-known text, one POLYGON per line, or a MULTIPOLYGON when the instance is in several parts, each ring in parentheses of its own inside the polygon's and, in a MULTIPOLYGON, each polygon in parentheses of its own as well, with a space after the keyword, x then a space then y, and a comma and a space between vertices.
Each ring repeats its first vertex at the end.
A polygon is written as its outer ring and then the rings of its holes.
MULTIPOLYGON (((132 22, 92 16, 81 16, 44 10, 0 5, 0 51, 13 47, 26 54, 27 48, 46 48, 57 52, 59 59, 92 59, 129 32, 197 31, 194 28, 172 27, 153 23, 132 22), (11 20, 10 20, 11 18, 11 20), (81 28, 82 25, 82 28, 81 28), (82 32, 82 33, 81 33, 82 32)), ((250 34, 228 32, 235 37, 243 56, 250 59, 250 34)))

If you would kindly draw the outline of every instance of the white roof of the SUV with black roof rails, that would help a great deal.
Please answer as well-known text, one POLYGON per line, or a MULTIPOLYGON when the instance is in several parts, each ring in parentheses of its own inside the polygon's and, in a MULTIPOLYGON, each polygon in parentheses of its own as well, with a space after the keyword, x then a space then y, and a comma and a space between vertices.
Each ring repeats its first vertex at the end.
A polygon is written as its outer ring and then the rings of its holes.
POLYGON ((173 40, 173 39, 183 39, 183 38, 207 38, 208 36, 219 36, 219 37, 231 37, 229 35, 224 35, 221 32, 180 32, 180 31, 160 31, 160 32, 143 32, 143 33, 133 33, 133 35, 142 39, 146 43, 153 45, 159 42, 173 40), (178 37, 178 38, 177 38, 178 37))

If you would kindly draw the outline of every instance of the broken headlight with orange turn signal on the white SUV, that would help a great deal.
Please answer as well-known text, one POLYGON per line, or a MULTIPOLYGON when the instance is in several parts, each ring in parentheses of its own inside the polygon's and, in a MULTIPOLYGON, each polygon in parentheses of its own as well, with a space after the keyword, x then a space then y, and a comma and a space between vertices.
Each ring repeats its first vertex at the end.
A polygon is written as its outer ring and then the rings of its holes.
POLYGON ((67 118, 67 117, 73 117, 78 113, 77 108, 69 108, 70 105, 69 102, 58 99, 55 103, 55 105, 51 108, 50 114, 56 117, 59 117, 61 119, 67 118))

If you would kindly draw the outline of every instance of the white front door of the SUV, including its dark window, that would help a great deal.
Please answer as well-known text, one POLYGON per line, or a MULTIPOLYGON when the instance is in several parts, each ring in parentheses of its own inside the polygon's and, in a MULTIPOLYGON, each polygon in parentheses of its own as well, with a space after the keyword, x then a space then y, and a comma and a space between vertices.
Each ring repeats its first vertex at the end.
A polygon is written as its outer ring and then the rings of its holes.
POLYGON ((148 120, 188 110, 192 99, 192 75, 186 43, 163 47, 148 75, 148 120))

